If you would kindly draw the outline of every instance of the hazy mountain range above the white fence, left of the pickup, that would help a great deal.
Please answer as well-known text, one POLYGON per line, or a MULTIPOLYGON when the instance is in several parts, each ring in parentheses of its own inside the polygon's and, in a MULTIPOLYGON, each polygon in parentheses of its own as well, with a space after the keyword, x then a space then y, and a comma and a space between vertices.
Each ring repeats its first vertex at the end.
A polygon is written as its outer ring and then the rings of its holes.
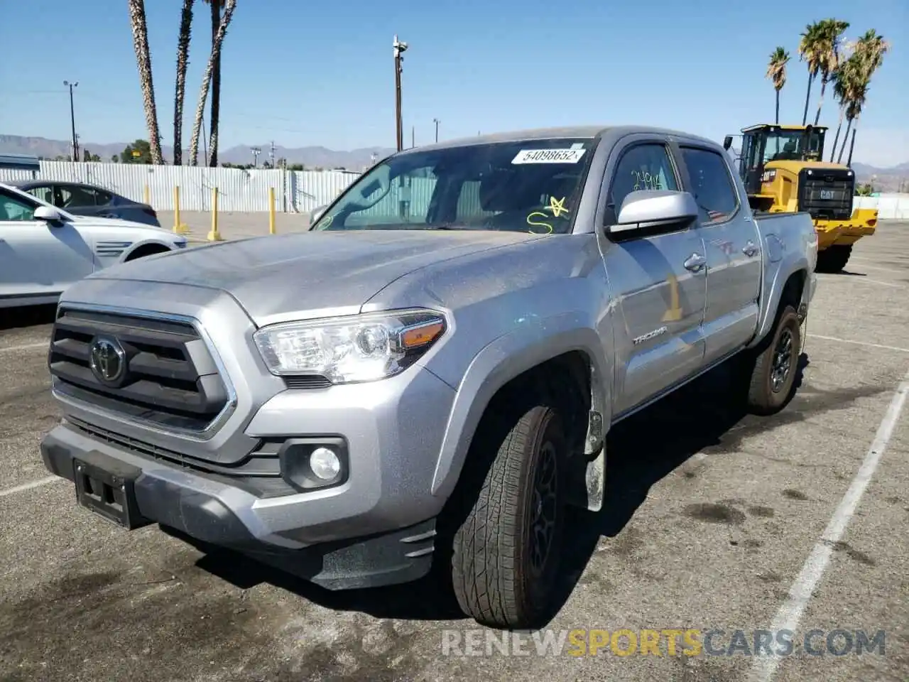
MULTIPOLYGON (((81 149, 87 149, 91 154, 100 156, 102 161, 110 161, 113 155, 122 154, 125 146, 132 143, 133 141, 103 145, 80 142, 79 146, 81 149)), ((268 160, 268 154, 271 151, 268 143, 235 145, 227 149, 219 149, 218 161, 229 164, 251 164, 254 159, 252 152, 254 146, 261 150, 258 163, 262 165, 263 162, 268 160)), ((383 158, 394 151, 394 149, 379 146, 352 149, 350 151, 336 151, 324 146, 285 147, 275 145, 275 160, 284 158, 287 159, 288 165, 303 164, 307 168, 318 166, 321 168, 346 168, 359 171, 365 165, 373 164, 372 156, 374 154, 376 158, 383 158)), ((46 137, 25 137, 22 135, 0 135, 0 154, 26 154, 53 159, 56 156, 68 157, 72 153, 72 143, 67 140, 50 140, 46 137)), ((165 159, 174 157, 173 147, 162 147, 162 153, 165 159)), ((199 155, 202 155, 201 149, 199 155)), ((184 152, 184 158, 187 159, 188 157, 189 152, 187 150, 184 152)))

